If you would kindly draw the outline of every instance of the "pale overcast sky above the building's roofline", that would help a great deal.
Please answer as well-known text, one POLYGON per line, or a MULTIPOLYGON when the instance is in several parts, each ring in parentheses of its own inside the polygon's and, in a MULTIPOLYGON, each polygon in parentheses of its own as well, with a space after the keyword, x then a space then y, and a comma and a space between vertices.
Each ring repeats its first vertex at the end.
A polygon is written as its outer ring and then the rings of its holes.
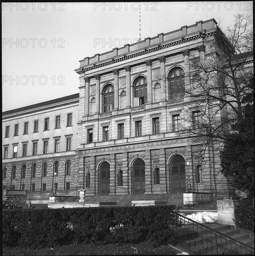
MULTIPOLYGON (((252 1, 141 2, 141 38, 252 15, 252 1)), ((84 57, 139 38, 138 2, 2 3, 2 111, 78 93, 84 57)))

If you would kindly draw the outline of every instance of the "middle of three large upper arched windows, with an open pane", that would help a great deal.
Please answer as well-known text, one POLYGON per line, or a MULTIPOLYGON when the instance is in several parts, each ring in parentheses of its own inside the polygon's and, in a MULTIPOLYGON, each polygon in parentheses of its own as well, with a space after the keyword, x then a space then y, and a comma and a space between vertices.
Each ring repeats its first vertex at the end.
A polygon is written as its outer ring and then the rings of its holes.
POLYGON ((137 77, 134 81, 134 107, 147 103, 147 81, 143 76, 137 77))

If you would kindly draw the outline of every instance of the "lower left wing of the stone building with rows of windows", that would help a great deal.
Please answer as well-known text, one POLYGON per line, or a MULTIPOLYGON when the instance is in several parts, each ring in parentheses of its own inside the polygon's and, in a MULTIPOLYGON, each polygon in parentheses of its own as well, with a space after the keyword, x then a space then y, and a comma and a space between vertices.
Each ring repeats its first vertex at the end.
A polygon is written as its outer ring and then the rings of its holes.
POLYGON ((3 189, 31 198, 72 194, 78 183, 79 94, 3 112, 3 189))

